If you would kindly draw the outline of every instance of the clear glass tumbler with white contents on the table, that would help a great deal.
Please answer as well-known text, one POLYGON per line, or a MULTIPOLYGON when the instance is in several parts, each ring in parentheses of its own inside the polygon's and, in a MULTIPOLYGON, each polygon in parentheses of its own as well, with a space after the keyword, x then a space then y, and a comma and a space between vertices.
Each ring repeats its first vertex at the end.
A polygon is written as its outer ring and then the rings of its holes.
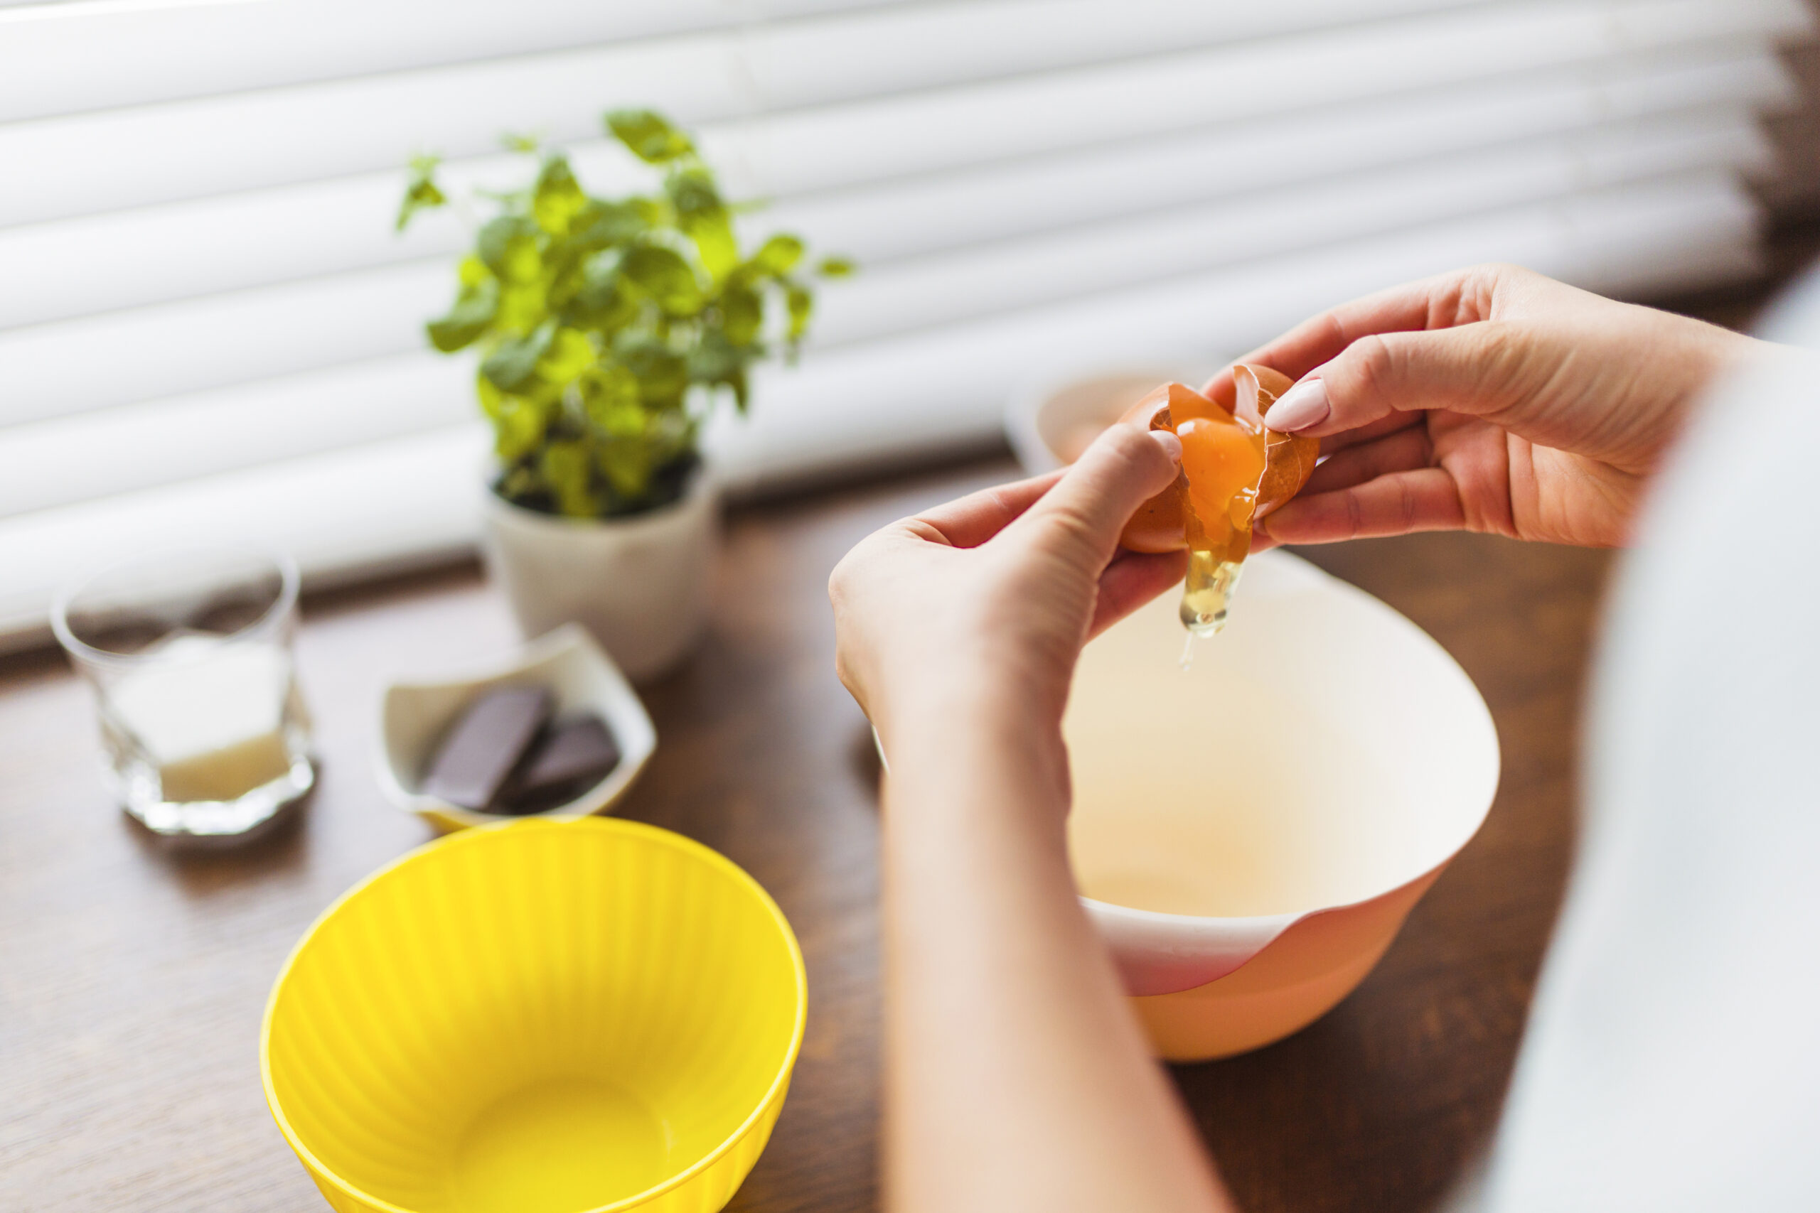
POLYGON ((297 564, 186 547, 67 587, 51 627, 95 687, 106 778, 160 835, 233 838, 315 784, 297 689, 297 564))

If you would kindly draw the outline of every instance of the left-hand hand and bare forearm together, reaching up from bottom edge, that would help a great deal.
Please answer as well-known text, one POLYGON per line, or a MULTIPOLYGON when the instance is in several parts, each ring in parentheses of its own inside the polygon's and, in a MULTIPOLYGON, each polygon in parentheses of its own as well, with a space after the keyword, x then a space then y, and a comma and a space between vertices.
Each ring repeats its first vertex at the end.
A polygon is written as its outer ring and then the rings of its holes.
POLYGON ((1117 551, 1181 444, 1114 426, 1065 473, 861 542, 828 582, 883 797, 885 1204, 1230 1213, 1074 891, 1061 709, 1081 644, 1183 556, 1117 551))

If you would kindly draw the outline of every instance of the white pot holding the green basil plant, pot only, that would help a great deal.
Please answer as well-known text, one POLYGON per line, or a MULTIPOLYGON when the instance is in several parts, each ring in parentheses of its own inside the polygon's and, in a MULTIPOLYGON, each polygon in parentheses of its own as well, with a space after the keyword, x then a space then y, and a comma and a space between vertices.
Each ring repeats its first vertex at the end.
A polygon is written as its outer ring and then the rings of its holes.
POLYGON ((708 620, 719 493, 630 518, 561 518, 486 493, 486 566, 526 638, 581 624, 633 682, 688 655, 708 620))

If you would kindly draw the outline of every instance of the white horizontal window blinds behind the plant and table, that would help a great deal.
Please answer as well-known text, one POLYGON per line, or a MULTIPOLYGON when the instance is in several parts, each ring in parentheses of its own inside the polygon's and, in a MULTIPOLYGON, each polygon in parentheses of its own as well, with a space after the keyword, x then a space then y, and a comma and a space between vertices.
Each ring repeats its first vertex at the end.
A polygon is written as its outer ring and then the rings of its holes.
POLYGON ((393 236, 413 151, 451 155, 464 193, 522 173, 499 129, 544 131, 617 191, 637 173, 597 115, 655 104, 772 198, 753 231, 855 255, 803 366, 713 435, 750 482, 977 438, 1056 360, 1212 358, 1449 264, 1613 291, 1749 273, 1738 180, 1771 171, 1754 115, 1793 102, 1773 51, 1809 20, 1800 0, 9 20, 33 11, 0 7, 0 629, 71 553, 171 527, 260 529, 317 569, 471 536, 470 371, 420 329, 466 233, 444 211, 393 236), (366 506, 293 509, 331 491, 366 506), (348 511, 359 544, 329 526, 348 511))

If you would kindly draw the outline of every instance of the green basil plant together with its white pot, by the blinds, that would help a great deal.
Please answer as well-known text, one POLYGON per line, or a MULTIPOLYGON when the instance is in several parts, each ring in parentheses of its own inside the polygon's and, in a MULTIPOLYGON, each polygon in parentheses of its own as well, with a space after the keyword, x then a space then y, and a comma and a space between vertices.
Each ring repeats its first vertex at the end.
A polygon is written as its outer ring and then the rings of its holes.
MULTIPOLYGON (((717 498, 701 426, 728 398, 746 411, 753 362, 795 355, 814 295, 797 236, 741 249, 737 207, 684 131, 644 109, 613 111, 606 127, 661 189, 595 198, 564 155, 508 140, 535 156, 535 178, 482 195, 495 215, 428 335, 480 355, 495 438, 484 551, 519 626, 535 637, 579 622, 646 678, 706 620, 717 498)), ((411 162, 400 229, 448 202, 435 169, 411 162)))

